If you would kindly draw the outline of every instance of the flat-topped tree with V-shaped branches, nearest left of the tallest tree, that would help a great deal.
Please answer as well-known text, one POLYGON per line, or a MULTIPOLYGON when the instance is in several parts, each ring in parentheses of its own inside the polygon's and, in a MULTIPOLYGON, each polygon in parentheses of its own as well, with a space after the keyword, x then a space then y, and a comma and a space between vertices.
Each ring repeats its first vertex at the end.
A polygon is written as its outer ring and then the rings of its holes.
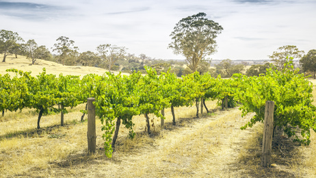
POLYGON ((127 48, 118 47, 111 44, 100 44, 98 47, 96 47, 96 51, 98 51, 98 55, 101 57, 101 59, 107 62, 109 71, 111 71, 111 67, 113 66, 114 62, 116 62, 116 60, 119 58, 124 57, 127 48))

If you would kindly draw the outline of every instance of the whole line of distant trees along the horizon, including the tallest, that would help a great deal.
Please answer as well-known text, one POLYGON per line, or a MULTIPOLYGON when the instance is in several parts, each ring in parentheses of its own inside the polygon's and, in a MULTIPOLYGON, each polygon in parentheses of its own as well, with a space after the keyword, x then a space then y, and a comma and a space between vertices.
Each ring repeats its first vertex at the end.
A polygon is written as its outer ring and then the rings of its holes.
MULTIPOLYGON (((75 46, 75 41, 70 40, 66 36, 57 38, 56 43, 51 48, 55 52, 52 54, 47 47, 38 45, 35 40, 27 40, 25 42, 18 33, 5 29, 0 31, 0 53, 3 53, 2 62, 5 62, 8 55, 14 55, 15 58, 18 55, 24 55, 31 61, 31 64, 36 64, 37 60, 40 59, 67 66, 95 66, 123 73, 133 73, 133 71, 146 73, 144 66, 150 66, 155 68, 158 75, 170 70, 178 77, 194 73, 195 71, 198 71, 200 74, 209 72, 214 77, 218 75, 231 77, 234 73, 245 73, 248 76, 265 74, 267 68, 269 68, 269 62, 255 64, 246 68, 246 64, 235 64, 232 60, 226 59, 222 60, 220 64, 215 64, 215 67, 211 67, 211 60, 205 59, 205 56, 215 52, 214 38, 216 38, 217 34, 220 34, 222 27, 204 18, 205 16, 206 14, 199 13, 183 18, 176 24, 174 31, 170 35, 173 42, 169 44, 169 48, 173 49, 176 54, 185 55, 185 61, 155 59, 146 56, 144 53, 137 56, 127 53, 126 47, 118 47, 114 44, 100 44, 96 47, 96 52, 85 51, 79 53, 79 48, 75 46), (194 23, 195 21, 199 23, 194 23), (209 31, 199 31, 201 27, 209 29, 209 31), (188 31, 193 31, 193 34, 183 36, 183 33, 188 34, 188 31), (195 42, 201 44, 207 51, 199 51, 201 47, 197 47, 192 43, 194 42, 192 40, 194 39, 194 34, 199 34, 199 38, 195 42), (200 39, 200 36, 204 36, 205 39, 200 39), (183 40, 186 38, 190 40, 183 40), (205 43, 202 44, 202 42, 205 43)), ((316 49, 312 49, 304 55, 304 51, 300 51, 296 46, 287 45, 279 47, 277 51, 269 55, 271 62, 279 70, 284 68, 287 57, 292 57, 295 62, 300 62, 301 72, 306 73, 306 75, 313 75, 316 78, 316 49)))

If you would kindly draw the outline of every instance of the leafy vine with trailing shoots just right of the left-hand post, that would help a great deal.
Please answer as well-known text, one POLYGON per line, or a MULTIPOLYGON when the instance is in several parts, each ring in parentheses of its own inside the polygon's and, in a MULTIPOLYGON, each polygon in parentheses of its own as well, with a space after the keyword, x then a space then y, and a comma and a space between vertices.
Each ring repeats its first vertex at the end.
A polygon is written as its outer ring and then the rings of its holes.
POLYGON ((140 79, 140 73, 129 76, 106 73, 103 79, 96 84, 96 115, 103 124, 103 139, 105 140, 105 155, 111 157, 112 135, 114 133, 115 118, 122 119, 122 123, 129 129, 129 137, 133 138, 132 118, 140 114, 139 99, 135 90, 140 79))

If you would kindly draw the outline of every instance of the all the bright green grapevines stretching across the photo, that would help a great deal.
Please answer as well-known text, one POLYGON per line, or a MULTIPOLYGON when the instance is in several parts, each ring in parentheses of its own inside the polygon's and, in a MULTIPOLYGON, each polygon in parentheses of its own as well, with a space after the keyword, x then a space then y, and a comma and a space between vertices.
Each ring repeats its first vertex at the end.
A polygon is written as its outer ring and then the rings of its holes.
MULTIPOLYGON (((291 60, 282 71, 271 66, 266 75, 246 77, 237 74, 230 79, 221 79, 220 76, 215 79, 209 73, 192 73, 178 78, 169 72, 157 75, 153 68, 146 68, 148 75, 105 73, 102 76, 85 75, 82 79, 62 74, 56 77, 47 74, 44 68, 36 77, 29 72, 8 71, 16 75, 0 75, 0 111, 4 114, 5 110, 35 108, 39 114, 38 129, 41 116, 50 110, 64 114, 67 113, 65 107, 85 103, 88 97, 96 98, 96 115, 103 125, 105 154, 108 157, 114 150, 121 124, 129 129, 130 138, 135 136, 133 116, 144 114, 146 130, 150 133, 148 114, 163 119, 161 110, 171 107, 175 124, 174 107, 195 104, 198 116, 198 105, 205 105, 205 99, 218 100, 223 106, 224 98, 228 97, 229 106, 234 107, 235 101, 242 104, 243 116, 254 112, 254 118, 241 129, 263 122, 265 101, 269 100, 276 102, 274 127, 285 127, 288 136, 293 136, 296 127, 299 127, 304 138, 300 141, 307 144, 310 142, 310 129, 316 131, 316 107, 312 105, 311 94, 313 85, 293 69, 291 60), (55 105, 61 107, 57 109, 55 105)), ((61 122, 63 124, 63 117, 61 122)))

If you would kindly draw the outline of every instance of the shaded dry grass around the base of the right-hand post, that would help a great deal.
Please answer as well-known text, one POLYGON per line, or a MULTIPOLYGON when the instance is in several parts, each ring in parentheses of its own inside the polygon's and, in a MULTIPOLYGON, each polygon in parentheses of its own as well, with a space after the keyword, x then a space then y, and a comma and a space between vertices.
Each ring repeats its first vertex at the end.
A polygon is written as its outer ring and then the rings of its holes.
MULTIPOLYGON (((301 167, 299 148, 302 147, 298 142, 293 142, 293 138, 284 136, 282 130, 275 133, 272 139, 272 157, 268 168, 261 166, 262 136, 256 135, 258 144, 255 147, 246 149, 246 156, 239 157, 231 166, 233 170, 241 171, 241 177, 300 177, 295 167, 301 167)), ((245 144, 245 143, 243 143, 245 144)))

